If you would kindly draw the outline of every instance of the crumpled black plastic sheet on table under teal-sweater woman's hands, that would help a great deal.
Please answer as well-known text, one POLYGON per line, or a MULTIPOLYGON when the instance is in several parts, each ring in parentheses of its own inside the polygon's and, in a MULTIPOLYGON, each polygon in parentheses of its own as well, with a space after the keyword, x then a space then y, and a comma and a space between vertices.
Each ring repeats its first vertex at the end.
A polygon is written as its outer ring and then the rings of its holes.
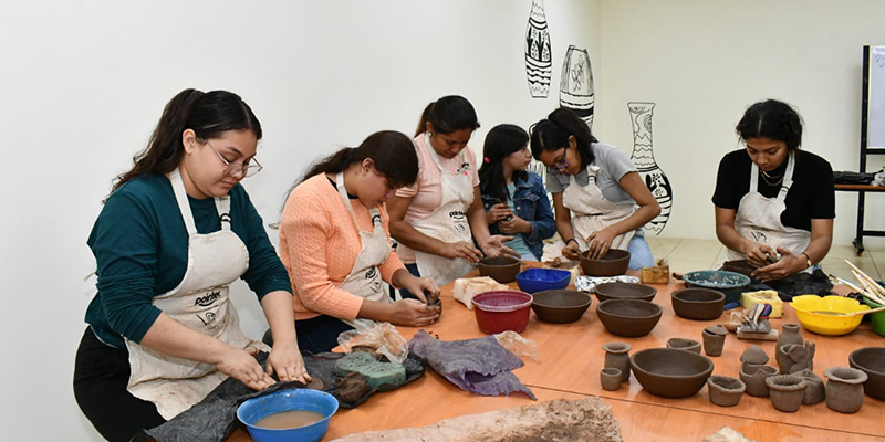
MULTIPOLYGON (((339 388, 339 378, 335 376, 335 362, 343 358, 341 352, 321 352, 304 356, 304 367, 314 380, 322 381, 322 390, 335 396, 339 388)), ((263 367, 268 360, 267 352, 259 352, 256 359, 263 367)), ((424 375, 424 360, 409 355, 403 366, 406 368, 406 381, 412 382, 424 375)), ((277 382, 261 391, 254 391, 237 379, 228 378, 215 390, 197 403, 185 410, 168 422, 145 430, 150 439, 157 442, 221 442, 237 428, 237 409, 247 399, 264 396, 278 390, 304 388, 298 381, 277 382)), ((354 408, 365 402, 369 396, 379 391, 389 391, 399 386, 382 383, 371 388, 353 401, 339 398, 341 408, 354 408)))

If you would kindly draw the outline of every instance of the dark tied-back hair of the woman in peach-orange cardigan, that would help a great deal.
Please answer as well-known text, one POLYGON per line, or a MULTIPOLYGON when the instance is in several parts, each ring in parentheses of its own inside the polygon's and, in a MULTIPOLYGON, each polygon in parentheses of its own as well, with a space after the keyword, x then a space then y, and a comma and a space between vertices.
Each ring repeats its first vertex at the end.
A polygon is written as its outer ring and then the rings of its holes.
POLYGON ((412 186, 418 180, 418 154, 412 139, 396 130, 382 130, 369 135, 358 147, 345 147, 314 164, 295 186, 320 173, 343 172, 366 158, 375 162, 375 170, 391 186, 412 186))

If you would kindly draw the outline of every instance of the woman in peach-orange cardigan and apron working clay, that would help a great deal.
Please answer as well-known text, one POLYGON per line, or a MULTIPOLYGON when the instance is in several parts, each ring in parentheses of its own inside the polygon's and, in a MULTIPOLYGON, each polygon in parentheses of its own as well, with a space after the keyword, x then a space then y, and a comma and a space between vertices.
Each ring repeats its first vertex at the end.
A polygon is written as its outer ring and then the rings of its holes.
POLYGON ((425 296, 439 288, 413 276, 391 249, 384 202, 417 175, 408 137, 379 131, 314 165, 289 194, 280 257, 292 281, 299 348, 330 351, 342 332, 375 322, 423 327, 439 318, 439 306, 428 306, 425 296), (421 301, 394 302, 382 282, 421 301))

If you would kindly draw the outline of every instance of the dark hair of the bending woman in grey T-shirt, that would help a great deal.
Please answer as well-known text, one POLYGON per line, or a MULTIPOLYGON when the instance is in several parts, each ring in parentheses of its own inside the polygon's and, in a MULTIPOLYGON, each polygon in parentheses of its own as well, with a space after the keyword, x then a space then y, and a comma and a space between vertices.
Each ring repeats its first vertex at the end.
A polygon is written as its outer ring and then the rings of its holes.
POLYGON ((577 154, 581 156, 581 167, 585 168, 593 162, 593 143, 600 143, 590 131, 590 126, 574 112, 560 107, 534 124, 531 128, 532 156, 540 160, 541 152, 555 151, 569 146, 569 137, 577 140, 577 154))

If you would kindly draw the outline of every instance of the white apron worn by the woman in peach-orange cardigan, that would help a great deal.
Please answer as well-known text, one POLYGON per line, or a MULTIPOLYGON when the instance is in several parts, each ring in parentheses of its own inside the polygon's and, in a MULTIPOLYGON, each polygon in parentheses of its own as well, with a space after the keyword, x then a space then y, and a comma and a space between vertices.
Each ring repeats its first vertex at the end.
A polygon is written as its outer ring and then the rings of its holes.
MULTIPOLYGON (((362 249, 360 249, 360 254, 356 255, 356 260, 353 263, 353 270, 351 270, 351 274, 344 278, 344 282, 339 285, 339 288, 369 301, 393 302, 384 290, 381 271, 378 270, 378 265, 387 261, 387 257, 391 255, 391 243, 381 223, 378 208, 376 206, 369 209, 373 229, 371 232, 363 232, 356 223, 356 215, 353 213, 351 199, 347 197, 347 191, 344 188, 344 173, 339 173, 335 177, 335 181, 337 183, 339 193, 341 194, 341 200, 344 201, 344 206, 347 208, 347 211, 351 212, 353 228, 360 232, 360 240, 362 242, 362 249)), ((358 332, 365 332, 375 325, 374 320, 365 318, 344 322, 358 332)))

